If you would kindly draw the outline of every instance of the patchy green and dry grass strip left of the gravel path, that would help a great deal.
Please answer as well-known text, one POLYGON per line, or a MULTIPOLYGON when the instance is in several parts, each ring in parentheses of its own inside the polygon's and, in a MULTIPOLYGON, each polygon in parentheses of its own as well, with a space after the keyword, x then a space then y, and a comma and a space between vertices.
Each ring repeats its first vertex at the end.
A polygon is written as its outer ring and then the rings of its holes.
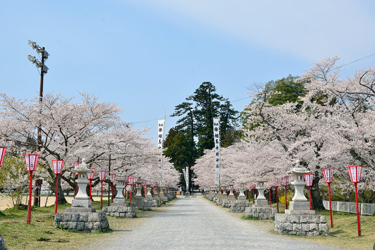
MULTIPOLYGON (((107 200, 106 200, 107 201, 107 200)), ((4 237, 8 249, 82 249, 82 246, 93 244, 104 237, 110 237, 120 230, 132 228, 144 223, 147 217, 160 213, 173 201, 151 211, 137 211, 136 218, 107 216, 111 230, 109 232, 82 233, 63 230, 53 226, 55 206, 33 207, 31 224, 27 224, 27 209, 6 209, 0 212, 0 234, 4 237)), ((103 200, 103 206, 107 202, 103 200)), ((58 212, 65 212, 70 204, 59 205, 58 212)), ((100 212, 100 201, 92 202, 92 207, 100 212)))

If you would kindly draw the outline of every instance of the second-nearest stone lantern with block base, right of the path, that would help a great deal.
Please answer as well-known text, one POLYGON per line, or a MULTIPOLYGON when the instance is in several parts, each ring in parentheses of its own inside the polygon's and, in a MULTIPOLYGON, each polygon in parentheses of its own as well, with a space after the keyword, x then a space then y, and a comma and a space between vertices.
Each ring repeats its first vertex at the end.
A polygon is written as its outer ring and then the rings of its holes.
POLYGON ((277 214, 277 210, 275 208, 270 208, 268 205, 268 201, 264 197, 264 183, 267 180, 263 177, 260 177, 256 179, 256 181, 258 183, 257 189, 259 194, 257 196, 257 199, 255 200, 255 204, 245 209, 245 216, 257 217, 260 219, 274 219, 275 214, 277 214))

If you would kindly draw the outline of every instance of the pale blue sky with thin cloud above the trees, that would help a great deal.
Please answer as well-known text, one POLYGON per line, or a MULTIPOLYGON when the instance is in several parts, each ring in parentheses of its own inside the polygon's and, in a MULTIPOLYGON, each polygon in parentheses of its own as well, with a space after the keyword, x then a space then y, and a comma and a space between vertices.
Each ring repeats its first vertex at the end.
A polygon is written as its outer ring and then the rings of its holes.
MULTIPOLYGON (((124 107, 127 122, 163 117, 165 107, 168 131, 177 120, 168 115, 204 81, 234 101, 254 83, 300 75, 324 58, 338 55, 341 65, 375 53, 374 9, 374 1, 342 0, 4 1, 0 92, 37 95, 33 39, 50 54, 44 92, 95 93, 124 107)), ((342 75, 374 65, 372 56, 342 75)), ((154 138, 156 125, 134 124, 152 126, 154 138)))

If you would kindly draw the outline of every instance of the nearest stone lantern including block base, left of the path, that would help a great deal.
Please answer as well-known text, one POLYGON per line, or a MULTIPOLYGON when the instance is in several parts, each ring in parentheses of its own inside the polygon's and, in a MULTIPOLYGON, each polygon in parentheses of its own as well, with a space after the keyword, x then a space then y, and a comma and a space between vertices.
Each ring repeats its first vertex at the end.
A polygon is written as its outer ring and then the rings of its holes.
POLYGON ((75 166, 73 173, 78 173, 78 192, 72 200, 72 207, 66 208, 66 212, 57 213, 53 225, 62 225, 67 229, 76 231, 92 232, 97 230, 106 230, 110 227, 107 215, 103 212, 96 212, 91 208, 91 200, 86 193, 86 186, 89 183, 87 173, 92 173, 88 169, 86 159, 82 159, 82 164, 75 166))

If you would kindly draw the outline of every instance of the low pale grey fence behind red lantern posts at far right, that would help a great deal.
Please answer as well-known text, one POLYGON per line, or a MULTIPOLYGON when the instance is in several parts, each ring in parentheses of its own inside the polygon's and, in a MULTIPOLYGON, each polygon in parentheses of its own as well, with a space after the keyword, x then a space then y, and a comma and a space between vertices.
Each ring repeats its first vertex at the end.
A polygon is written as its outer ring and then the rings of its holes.
MULTIPOLYGON (((323 206, 326 210, 330 210, 330 202, 323 201, 323 206)), ((341 202, 332 201, 331 207, 333 211, 346 212, 346 213, 357 213, 355 202, 341 202)), ((359 213, 361 215, 375 215, 375 204, 369 203, 358 203, 359 213)))

